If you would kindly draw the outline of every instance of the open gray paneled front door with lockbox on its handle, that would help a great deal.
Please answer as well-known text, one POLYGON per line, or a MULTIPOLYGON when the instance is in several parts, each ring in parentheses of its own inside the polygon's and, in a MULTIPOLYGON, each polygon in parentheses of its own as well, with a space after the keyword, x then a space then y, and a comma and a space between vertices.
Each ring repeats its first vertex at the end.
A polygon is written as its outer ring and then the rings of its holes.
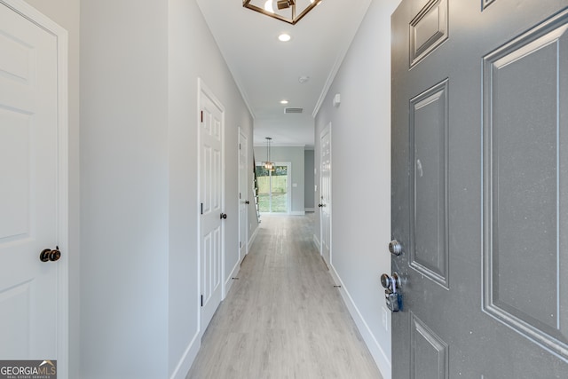
POLYGON ((568 1, 392 16, 392 377, 568 377, 568 1))

